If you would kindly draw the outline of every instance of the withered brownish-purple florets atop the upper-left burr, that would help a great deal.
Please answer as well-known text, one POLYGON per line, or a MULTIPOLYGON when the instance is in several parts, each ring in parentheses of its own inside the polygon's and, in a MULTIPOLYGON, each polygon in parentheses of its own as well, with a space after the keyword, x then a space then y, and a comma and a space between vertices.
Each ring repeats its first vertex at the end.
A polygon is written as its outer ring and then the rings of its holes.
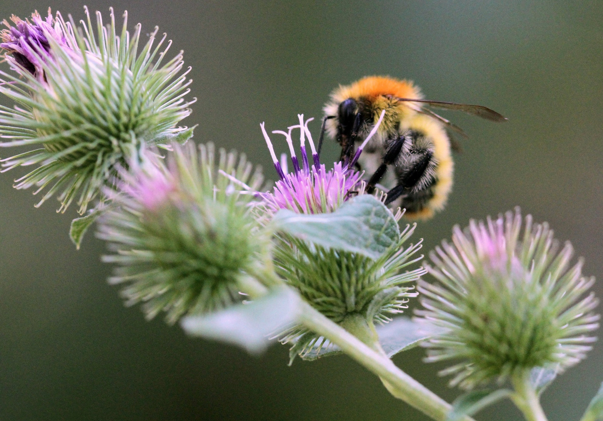
POLYGON ((46 19, 42 19, 35 11, 31 14, 31 22, 29 19, 22 20, 14 14, 10 20, 13 21, 14 26, 11 26, 6 19, 2 21, 8 29, 2 29, 0 32, 2 40, 0 48, 7 51, 5 54, 7 61, 13 64, 14 70, 19 73, 25 69, 36 78, 42 77, 42 60, 51 52, 50 37, 58 45, 71 49, 62 26, 52 19, 50 8, 46 19))

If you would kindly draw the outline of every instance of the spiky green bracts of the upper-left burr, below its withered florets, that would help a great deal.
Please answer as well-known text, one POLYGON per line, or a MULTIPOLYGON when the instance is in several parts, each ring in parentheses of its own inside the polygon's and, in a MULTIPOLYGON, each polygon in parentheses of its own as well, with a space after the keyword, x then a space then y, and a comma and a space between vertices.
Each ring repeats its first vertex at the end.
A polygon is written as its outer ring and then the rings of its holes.
POLYGON ((37 58, 41 72, 32 74, 10 52, 5 55, 21 78, 0 72, 0 93, 17 104, 0 106, 0 137, 10 139, 0 146, 37 149, 1 162, 3 171, 36 165, 14 185, 38 186, 34 194, 45 190, 36 206, 57 194, 59 211, 75 200, 83 214, 103 186, 112 183, 116 168, 127 167, 132 146, 185 130, 176 124, 191 112, 194 101, 183 99, 191 81, 186 81, 188 72, 180 74, 182 52, 162 64, 171 41, 160 51, 164 35, 154 46, 157 28, 139 51, 141 26, 130 34, 127 13, 121 35, 116 35, 113 10, 107 26, 96 13, 96 37, 89 16, 82 28, 65 22, 60 13, 51 24, 56 34, 45 26, 39 29, 48 51, 33 43, 22 45, 29 57, 37 58))

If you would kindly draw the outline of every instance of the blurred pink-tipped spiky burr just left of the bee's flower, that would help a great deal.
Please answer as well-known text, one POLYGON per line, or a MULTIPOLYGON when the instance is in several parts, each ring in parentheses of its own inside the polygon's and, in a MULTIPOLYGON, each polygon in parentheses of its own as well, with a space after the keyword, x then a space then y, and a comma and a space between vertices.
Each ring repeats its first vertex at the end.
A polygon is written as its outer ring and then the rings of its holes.
POLYGON ((145 303, 148 318, 163 310, 169 323, 241 301, 239 281, 270 259, 270 234, 250 215, 252 196, 224 176, 257 189, 259 171, 251 176, 244 155, 237 164, 224 150, 216 162, 213 144, 198 154, 192 142, 173 147, 168 167, 150 157, 132 164, 98 232, 117 252, 103 260, 119 265, 110 282, 127 284, 127 304, 145 303))

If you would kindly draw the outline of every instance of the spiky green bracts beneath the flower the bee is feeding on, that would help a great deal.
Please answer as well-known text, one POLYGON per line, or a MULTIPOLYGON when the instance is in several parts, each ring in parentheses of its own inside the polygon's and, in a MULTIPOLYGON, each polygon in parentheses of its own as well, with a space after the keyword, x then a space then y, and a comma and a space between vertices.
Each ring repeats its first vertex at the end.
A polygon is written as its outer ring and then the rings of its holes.
MULTIPOLYGON (((410 283, 425 274, 425 269, 408 269, 423 258, 413 259, 421 248, 421 241, 403 247, 415 226, 406 226, 399 241, 377 259, 282 236, 274 250, 276 271, 323 315, 361 340, 372 342, 376 340, 374 322, 390 321, 388 314, 402 313, 408 307, 409 297, 417 296, 415 286, 410 283), (370 338, 362 337, 365 334, 370 338)), ((292 348, 292 358, 309 351, 320 354, 321 347, 332 346, 328 340, 301 326, 284 331, 280 340, 297 342, 292 348)))

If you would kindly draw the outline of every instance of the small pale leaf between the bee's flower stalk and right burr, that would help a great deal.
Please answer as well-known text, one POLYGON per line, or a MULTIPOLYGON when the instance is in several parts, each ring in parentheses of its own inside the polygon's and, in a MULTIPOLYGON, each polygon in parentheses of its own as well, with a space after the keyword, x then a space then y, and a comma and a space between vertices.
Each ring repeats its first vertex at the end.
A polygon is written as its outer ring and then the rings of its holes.
POLYGON ((427 321, 417 321, 408 317, 397 317, 393 321, 376 327, 379 343, 388 357, 407 351, 429 337, 443 333, 444 328, 427 321))

